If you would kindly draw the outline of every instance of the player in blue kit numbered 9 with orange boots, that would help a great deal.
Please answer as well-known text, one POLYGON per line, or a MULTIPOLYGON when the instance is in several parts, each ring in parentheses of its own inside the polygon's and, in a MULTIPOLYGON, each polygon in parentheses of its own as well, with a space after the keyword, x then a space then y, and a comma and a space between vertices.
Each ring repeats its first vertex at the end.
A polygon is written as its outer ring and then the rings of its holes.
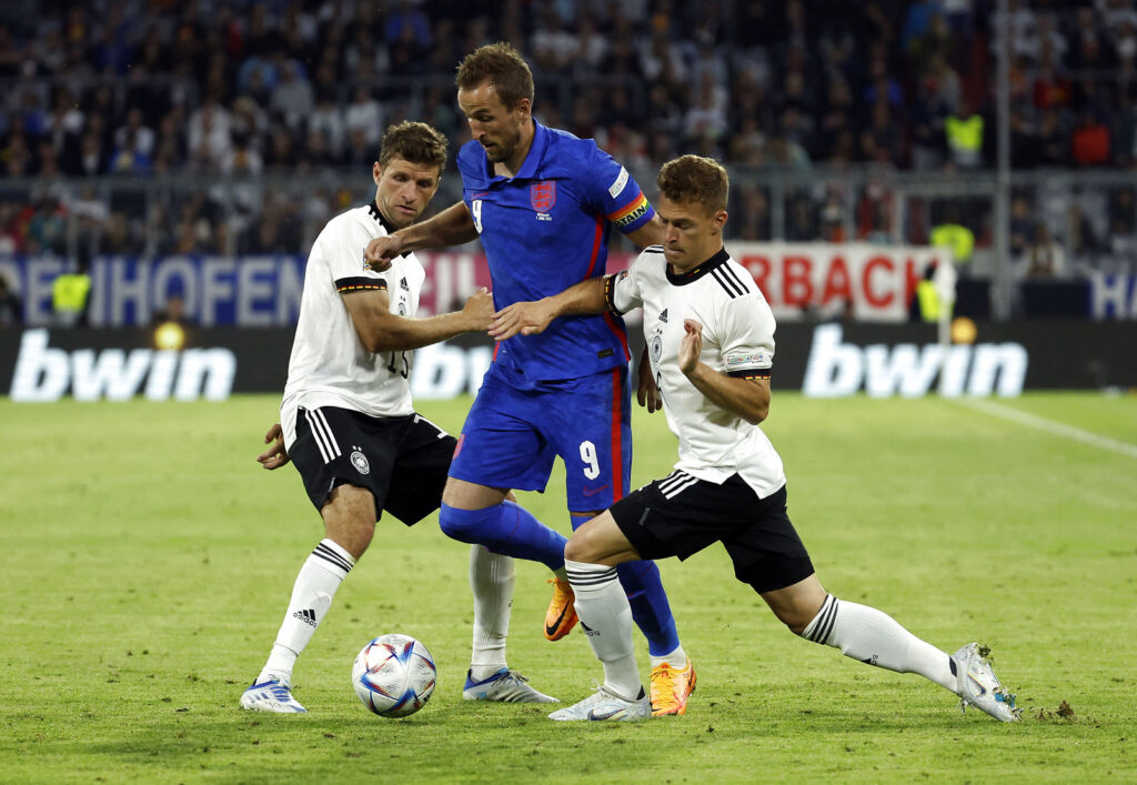
MULTIPOLYGON (((457 159, 463 201, 372 240, 366 257, 373 266, 480 237, 500 311, 604 275, 612 225, 640 247, 662 241, 655 210, 624 167, 595 141, 533 119, 533 77, 516 50, 479 48, 462 61, 456 82, 473 137, 457 159)), ((504 499, 511 488, 542 490, 558 455, 574 529, 622 498, 631 479, 628 361, 623 322, 611 315, 566 317, 539 336, 498 344, 450 465, 442 529, 470 543, 507 539, 499 553, 549 563, 564 542, 553 542, 546 527, 504 499)), ((622 564, 620 581, 648 639, 653 712, 682 714, 695 669, 658 568, 622 564)), ((545 633, 556 641, 576 623, 576 612, 567 580, 550 582, 545 633)), ((476 692, 480 677, 471 672, 467 691, 476 692)))

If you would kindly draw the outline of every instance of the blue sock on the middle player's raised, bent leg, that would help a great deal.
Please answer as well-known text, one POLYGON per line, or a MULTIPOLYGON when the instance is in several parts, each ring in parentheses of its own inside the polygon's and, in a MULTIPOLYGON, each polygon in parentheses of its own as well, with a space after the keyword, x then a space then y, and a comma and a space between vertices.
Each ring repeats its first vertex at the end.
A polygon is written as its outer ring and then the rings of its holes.
POLYGON ((438 523, 447 536, 484 545, 493 553, 542 562, 550 570, 565 565, 565 543, 554 531, 513 502, 501 502, 482 510, 459 510, 443 504, 438 523))

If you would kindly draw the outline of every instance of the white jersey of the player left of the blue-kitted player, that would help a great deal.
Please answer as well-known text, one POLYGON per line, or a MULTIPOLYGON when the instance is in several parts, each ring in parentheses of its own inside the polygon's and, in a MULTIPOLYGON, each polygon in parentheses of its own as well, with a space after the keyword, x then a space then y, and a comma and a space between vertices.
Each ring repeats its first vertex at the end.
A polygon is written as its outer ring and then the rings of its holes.
POLYGON ((376 418, 413 412, 408 383, 413 353, 368 352, 343 304, 350 291, 385 289, 391 313, 413 317, 418 312, 426 273, 414 254, 399 256, 381 273, 364 262, 367 242, 387 234, 372 203, 329 221, 312 246, 281 403, 285 447, 296 440, 300 406, 338 406, 376 418))

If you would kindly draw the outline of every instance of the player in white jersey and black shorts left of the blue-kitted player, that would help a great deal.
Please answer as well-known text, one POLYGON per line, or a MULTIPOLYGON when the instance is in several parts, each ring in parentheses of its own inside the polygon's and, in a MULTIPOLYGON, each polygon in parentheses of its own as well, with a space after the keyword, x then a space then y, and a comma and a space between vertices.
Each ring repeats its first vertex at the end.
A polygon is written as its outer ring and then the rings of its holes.
MULTIPOLYGON (((316 238, 305 272, 300 317, 272 446, 257 460, 290 460, 324 520, 325 538, 297 576, 268 660, 241 695, 244 709, 301 713, 292 695, 297 658, 332 597, 363 555, 383 512, 407 526, 438 510, 456 440, 415 413, 412 350, 484 330, 493 312, 484 289, 462 311, 416 317, 425 272, 414 254, 382 273, 363 251, 375 237, 412 224, 438 190, 446 138, 423 123, 400 123, 383 137, 372 167, 375 200, 332 218, 316 238)), ((555 532, 549 532, 555 535, 555 532)), ((551 702, 505 666, 513 601, 513 559, 471 550, 474 589, 473 669, 492 678, 470 700, 551 702)))

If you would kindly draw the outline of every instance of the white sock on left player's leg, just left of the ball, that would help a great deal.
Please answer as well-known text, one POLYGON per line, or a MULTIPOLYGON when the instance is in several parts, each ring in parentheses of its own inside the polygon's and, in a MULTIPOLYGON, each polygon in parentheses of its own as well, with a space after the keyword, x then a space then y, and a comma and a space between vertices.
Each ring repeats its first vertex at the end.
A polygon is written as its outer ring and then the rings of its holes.
POLYGON ((312 552, 292 586, 292 598, 276 643, 268 655, 268 661, 257 677, 257 681, 266 678, 279 678, 292 681, 292 668, 300 652, 312 641, 316 627, 324 620, 324 614, 332 605, 335 590, 355 567, 355 559, 331 539, 319 540, 312 552))

